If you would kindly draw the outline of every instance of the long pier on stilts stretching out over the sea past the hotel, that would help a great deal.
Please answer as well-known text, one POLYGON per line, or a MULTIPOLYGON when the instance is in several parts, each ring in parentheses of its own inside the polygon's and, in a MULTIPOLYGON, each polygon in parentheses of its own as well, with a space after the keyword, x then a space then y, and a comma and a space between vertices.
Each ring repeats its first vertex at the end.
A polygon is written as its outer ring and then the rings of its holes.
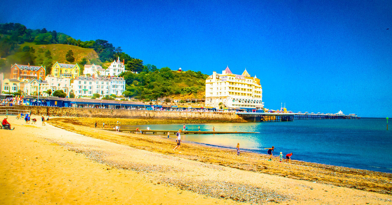
POLYGON ((268 112, 236 112, 251 122, 288 122, 294 120, 327 120, 327 119, 359 119, 357 115, 341 114, 309 114, 309 113, 268 113, 268 112))

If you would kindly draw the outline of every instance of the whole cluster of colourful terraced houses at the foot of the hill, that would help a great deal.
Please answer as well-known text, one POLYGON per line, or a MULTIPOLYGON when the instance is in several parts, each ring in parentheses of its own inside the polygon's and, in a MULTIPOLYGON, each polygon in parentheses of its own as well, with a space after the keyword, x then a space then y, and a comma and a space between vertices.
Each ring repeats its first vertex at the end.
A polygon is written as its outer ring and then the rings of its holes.
POLYGON ((74 93, 78 96, 93 96, 94 93, 100 95, 115 94, 122 95, 125 91, 125 80, 118 77, 125 71, 124 60, 120 58, 111 62, 107 69, 100 65, 84 65, 83 74, 80 73, 78 63, 59 63, 52 66, 51 73, 45 76, 46 67, 35 65, 11 65, 10 78, 6 78, 2 83, 2 91, 5 93, 15 93, 19 90, 25 95, 48 96, 47 90, 52 93, 62 90, 69 96, 74 93))

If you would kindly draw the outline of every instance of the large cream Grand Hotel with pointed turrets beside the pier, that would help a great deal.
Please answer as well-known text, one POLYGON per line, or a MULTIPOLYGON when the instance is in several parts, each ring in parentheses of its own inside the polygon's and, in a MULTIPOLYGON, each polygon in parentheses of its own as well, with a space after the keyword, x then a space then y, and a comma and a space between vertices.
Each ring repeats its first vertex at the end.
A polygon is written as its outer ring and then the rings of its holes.
POLYGON ((215 71, 205 80, 205 105, 220 107, 223 103, 228 108, 263 109, 260 79, 251 77, 245 71, 231 73, 227 67, 222 74, 215 71))

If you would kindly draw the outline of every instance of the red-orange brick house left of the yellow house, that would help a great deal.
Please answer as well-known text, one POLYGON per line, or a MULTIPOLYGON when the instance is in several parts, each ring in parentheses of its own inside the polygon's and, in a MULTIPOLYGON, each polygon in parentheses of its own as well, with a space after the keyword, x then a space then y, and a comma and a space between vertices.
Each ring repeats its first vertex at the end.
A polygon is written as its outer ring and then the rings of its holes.
POLYGON ((34 65, 11 65, 11 79, 20 79, 21 81, 29 81, 33 79, 45 80, 45 68, 41 66, 34 65))

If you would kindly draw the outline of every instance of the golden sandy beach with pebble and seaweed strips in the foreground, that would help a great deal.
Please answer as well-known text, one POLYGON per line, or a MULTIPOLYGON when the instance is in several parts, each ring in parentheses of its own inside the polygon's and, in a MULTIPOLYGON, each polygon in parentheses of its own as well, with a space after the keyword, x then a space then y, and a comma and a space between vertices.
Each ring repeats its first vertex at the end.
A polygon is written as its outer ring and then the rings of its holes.
POLYGON ((16 129, 0 130, 2 204, 392 204, 388 173, 186 141, 178 153, 174 139, 91 127, 98 119, 8 121, 16 129))

